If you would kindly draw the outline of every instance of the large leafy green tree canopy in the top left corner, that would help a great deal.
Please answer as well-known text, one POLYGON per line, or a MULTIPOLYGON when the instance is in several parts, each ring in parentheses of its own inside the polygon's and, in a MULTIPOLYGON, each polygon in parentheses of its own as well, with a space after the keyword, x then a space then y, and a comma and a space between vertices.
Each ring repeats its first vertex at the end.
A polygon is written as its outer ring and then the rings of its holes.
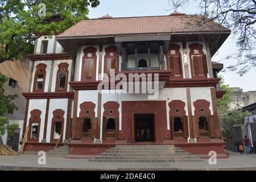
POLYGON ((88 15, 98 0, 0 0, 0 63, 32 53, 38 33, 67 30, 88 15), (44 9, 41 6, 44 3, 44 9))

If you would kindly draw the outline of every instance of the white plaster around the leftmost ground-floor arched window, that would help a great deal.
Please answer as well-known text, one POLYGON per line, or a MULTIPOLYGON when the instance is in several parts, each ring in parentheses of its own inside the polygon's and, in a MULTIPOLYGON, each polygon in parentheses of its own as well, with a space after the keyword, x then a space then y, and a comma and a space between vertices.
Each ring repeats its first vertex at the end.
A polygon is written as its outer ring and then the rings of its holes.
POLYGON ((43 135, 44 135, 44 121, 46 119, 46 104, 47 99, 36 99, 36 100, 30 100, 30 103, 28 105, 28 113, 27 113, 27 126, 29 125, 30 121, 30 112, 34 109, 38 109, 42 111, 42 114, 40 116, 41 123, 40 123, 40 134, 39 134, 39 142, 42 142, 43 135))

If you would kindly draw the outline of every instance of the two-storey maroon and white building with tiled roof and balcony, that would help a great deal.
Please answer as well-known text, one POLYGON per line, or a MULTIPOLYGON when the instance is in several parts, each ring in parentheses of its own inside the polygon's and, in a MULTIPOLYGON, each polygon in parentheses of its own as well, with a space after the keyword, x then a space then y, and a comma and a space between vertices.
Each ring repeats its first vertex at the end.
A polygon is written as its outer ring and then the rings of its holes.
POLYGON ((230 30, 202 21, 179 13, 102 16, 41 36, 28 56, 34 69, 30 92, 23 93, 25 150, 47 151, 60 139, 70 155, 97 155, 118 144, 174 144, 226 157, 216 105, 225 92, 216 90, 221 66, 211 57, 230 30), (118 87, 121 78, 129 84, 118 87))

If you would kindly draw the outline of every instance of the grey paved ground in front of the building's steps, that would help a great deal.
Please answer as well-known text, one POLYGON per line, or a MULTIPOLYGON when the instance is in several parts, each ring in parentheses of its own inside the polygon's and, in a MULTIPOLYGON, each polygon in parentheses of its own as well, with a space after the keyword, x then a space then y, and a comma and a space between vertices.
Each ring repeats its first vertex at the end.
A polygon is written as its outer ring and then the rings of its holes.
POLYGON ((229 159, 217 159, 217 165, 208 160, 197 163, 93 163, 88 159, 64 159, 48 157, 46 165, 38 164, 35 154, 0 156, 0 170, 255 170, 256 154, 230 155, 229 159))

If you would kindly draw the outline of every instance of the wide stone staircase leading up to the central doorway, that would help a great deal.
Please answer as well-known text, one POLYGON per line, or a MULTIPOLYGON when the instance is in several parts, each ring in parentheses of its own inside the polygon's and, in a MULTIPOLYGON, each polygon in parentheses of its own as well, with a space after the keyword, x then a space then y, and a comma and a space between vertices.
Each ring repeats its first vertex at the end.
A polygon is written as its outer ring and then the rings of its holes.
POLYGON ((89 162, 203 162, 173 145, 117 145, 89 162))

